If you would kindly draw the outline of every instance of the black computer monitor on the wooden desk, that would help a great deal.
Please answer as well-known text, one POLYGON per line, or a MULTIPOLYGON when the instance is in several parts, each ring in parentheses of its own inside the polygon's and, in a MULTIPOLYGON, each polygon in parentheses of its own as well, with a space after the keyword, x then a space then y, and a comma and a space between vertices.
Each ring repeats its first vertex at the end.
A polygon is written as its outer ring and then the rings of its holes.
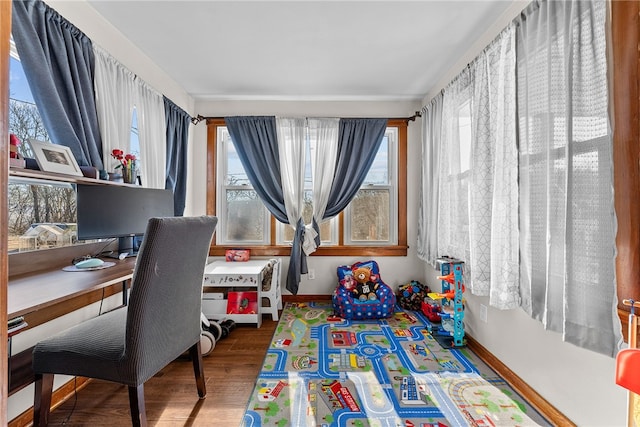
POLYGON ((174 216, 173 192, 120 185, 77 186, 78 240, 118 238, 114 257, 134 256, 153 217, 174 216))

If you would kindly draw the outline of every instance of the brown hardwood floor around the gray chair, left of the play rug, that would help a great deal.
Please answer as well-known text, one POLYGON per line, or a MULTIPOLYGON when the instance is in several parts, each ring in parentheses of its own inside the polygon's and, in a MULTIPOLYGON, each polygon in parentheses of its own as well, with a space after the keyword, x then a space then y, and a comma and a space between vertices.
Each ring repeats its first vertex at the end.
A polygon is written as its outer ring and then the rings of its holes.
MULTIPOLYGON (((239 426, 277 322, 238 325, 204 357, 207 397, 199 400, 188 357, 171 363, 145 383, 150 426, 239 426)), ((127 388, 93 380, 51 413, 49 425, 131 425, 127 388), (75 408, 74 408, 75 405, 75 408)))

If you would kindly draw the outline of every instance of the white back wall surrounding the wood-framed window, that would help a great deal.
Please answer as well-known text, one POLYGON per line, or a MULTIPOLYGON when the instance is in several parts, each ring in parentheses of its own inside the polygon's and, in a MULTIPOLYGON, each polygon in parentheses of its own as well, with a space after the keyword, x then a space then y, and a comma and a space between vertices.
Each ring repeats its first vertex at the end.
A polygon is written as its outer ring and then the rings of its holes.
MULTIPOLYGON (((419 109, 417 102, 293 102, 293 101, 201 101, 196 102, 196 112, 205 117, 233 115, 279 115, 296 117, 409 117, 419 109)), ((396 286, 412 279, 424 280, 422 262, 416 256, 415 242, 418 215, 418 181, 420 176, 420 134, 421 124, 409 122, 407 159, 407 236, 409 251, 406 257, 375 257, 380 266, 382 279, 396 286)), ((193 215, 206 213, 206 152, 207 127, 201 122, 191 128, 193 143, 189 153, 189 181, 187 183, 186 212, 193 215)), ((299 295, 331 294, 337 284, 336 268, 352 264, 370 257, 327 257, 310 256, 308 266, 315 270, 315 279, 302 276, 299 295)), ((287 257, 283 257, 284 274, 288 269, 287 257)), ((286 276, 283 276, 286 277, 286 276)), ((288 294, 287 291, 284 291, 288 294)))

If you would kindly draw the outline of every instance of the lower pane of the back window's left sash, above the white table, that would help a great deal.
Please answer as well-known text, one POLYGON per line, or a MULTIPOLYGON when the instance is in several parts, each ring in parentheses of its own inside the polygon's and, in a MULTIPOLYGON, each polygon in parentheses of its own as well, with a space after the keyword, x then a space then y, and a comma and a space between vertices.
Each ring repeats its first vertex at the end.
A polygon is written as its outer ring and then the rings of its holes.
POLYGON ((253 190, 227 189, 227 210, 224 224, 226 242, 262 242, 264 236, 264 205, 253 190))

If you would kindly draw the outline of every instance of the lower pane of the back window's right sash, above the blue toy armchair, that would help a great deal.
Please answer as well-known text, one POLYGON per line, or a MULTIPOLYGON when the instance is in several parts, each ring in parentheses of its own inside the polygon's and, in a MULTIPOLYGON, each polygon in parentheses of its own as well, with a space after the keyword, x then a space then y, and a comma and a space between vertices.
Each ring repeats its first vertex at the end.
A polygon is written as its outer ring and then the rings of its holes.
POLYGON ((388 189, 360 190, 351 201, 351 241, 388 242, 390 240, 388 189))

